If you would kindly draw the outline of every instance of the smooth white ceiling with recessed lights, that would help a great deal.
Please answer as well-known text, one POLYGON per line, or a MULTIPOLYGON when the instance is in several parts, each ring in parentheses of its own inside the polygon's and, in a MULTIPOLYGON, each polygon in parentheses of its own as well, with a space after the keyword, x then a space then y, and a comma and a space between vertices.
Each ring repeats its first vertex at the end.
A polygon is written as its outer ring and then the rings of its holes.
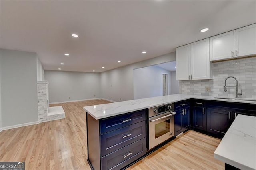
POLYGON ((0 3, 1 48, 37 52, 46 70, 102 72, 256 22, 256 1, 0 3))

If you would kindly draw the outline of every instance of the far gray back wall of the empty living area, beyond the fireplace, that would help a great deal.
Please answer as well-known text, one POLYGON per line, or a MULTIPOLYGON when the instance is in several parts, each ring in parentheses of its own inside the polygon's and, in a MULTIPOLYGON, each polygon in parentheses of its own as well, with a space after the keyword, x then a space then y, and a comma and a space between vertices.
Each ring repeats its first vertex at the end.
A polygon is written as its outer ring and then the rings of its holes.
POLYGON ((45 70, 44 79, 50 103, 100 98, 100 73, 45 70))

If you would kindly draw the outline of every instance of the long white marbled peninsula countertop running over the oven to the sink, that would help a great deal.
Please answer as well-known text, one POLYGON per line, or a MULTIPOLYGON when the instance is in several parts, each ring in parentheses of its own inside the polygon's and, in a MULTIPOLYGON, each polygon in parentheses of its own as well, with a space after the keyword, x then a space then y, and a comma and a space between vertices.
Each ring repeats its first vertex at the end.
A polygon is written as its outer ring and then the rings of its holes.
POLYGON ((83 108, 86 112, 88 112, 88 114, 90 114, 93 118, 98 120, 102 118, 108 118, 111 116, 117 116, 119 114, 133 112, 136 110, 142 110, 146 108, 160 106, 163 104, 178 102, 178 101, 182 101, 190 98, 256 104, 256 102, 254 101, 216 99, 214 97, 215 96, 172 94, 168 96, 158 96, 158 97, 152 97, 152 98, 128 100, 123 102, 99 104, 94 106, 85 106, 83 108))

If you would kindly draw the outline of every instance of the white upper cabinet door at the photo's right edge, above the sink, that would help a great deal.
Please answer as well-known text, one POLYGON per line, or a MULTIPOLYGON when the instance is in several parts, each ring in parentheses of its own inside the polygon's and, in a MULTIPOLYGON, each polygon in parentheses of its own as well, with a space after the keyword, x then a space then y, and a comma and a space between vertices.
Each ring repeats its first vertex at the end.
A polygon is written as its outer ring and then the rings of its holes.
POLYGON ((235 56, 256 54, 256 24, 234 30, 235 56))

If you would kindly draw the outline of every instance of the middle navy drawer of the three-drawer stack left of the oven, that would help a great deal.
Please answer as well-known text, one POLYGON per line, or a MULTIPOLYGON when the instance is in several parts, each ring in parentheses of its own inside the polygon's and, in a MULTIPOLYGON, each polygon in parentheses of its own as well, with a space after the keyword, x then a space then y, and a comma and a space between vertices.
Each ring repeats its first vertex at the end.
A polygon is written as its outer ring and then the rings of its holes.
POLYGON ((142 121, 100 135, 101 156, 114 152, 128 144, 146 137, 146 122, 142 121))

